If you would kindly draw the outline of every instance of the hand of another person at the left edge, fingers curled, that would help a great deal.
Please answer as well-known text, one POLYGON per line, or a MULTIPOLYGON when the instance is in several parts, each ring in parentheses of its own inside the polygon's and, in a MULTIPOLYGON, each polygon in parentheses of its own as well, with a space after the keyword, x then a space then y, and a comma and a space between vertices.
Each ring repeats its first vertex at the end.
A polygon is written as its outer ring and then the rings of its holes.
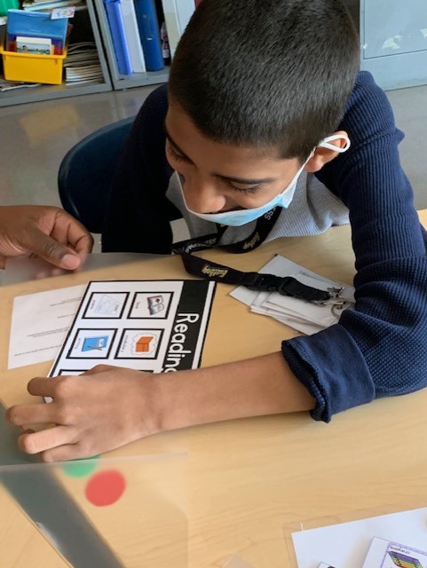
POLYGON ((92 246, 91 233, 63 209, 0 207, 0 268, 7 258, 30 252, 59 268, 74 270, 92 246))

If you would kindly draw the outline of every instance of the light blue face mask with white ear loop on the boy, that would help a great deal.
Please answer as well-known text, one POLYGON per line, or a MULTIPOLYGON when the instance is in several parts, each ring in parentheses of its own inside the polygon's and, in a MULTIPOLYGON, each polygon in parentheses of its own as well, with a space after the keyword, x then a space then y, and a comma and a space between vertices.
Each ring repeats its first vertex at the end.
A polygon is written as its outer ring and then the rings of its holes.
MULTIPOLYGON (((319 146, 328 148, 329 150, 334 150, 335 152, 343 153, 346 150, 348 150, 348 148, 350 147, 350 140, 345 136, 335 134, 334 136, 329 136, 328 138, 324 138, 320 142, 319 146), (329 142, 331 142, 332 140, 337 140, 337 139, 344 139, 346 141, 346 144, 343 148, 340 148, 333 144, 329 144, 329 142)), ((186 209, 190 213, 193 213, 193 215, 195 215, 196 217, 205 219, 205 221, 210 221, 211 223, 218 223, 219 225, 229 225, 233 227, 246 225, 251 221, 255 221, 257 218, 262 217, 263 215, 265 215, 265 213, 267 213, 267 211, 270 211, 275 207, 281 207, 283 209, 287 209, 294 197, 295 190, 297 189, 298 177, 300 177, 301 172, 304 170, 305 164, 310 160, 312 154, 310 154, 309 157, 305 160, 301 168, 297 171, 296 175, 292 178, 289 185, 287 185, 281 193, 273 197, 272 200, 265 203, 265 205, 261 205, 260 207, 255 207, 253 209, 237 209, 235 211, 224 211, 223 213, 196 213, 196 211, 193 211, 192 209, 189 209, 187 207, 186 198, 184 197, 184 203, 186 205, 186 209)), ((181 187, 182 191, 182 185, 180 179, 179 179, 179 186, 181 187)))

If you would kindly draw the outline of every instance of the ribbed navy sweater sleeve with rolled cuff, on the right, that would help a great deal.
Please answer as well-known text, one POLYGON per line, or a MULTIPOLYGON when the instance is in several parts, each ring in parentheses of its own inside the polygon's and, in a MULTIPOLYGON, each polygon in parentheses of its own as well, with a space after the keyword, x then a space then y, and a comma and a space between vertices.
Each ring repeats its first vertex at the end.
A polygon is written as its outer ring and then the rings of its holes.
POLYGON ((355 310, 316 335, 282 343, 316 399, 313 418, 325 422, 346 408, 427 385, 425 232, 399 164, 403 135, 368 73, 360 73, 338 130, 347 131, 352 146, 318 177, 349 208, 355 310))

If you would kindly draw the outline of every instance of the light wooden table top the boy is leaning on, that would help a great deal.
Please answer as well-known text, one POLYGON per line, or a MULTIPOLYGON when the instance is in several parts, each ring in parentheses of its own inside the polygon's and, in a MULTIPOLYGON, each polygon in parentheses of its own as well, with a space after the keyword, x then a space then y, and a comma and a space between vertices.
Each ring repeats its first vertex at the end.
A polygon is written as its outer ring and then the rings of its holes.
MULTIPOLYGON (((427 225, 427 210, 420 217, 427 225)), ((238 269, 257 270, 274 253, 352 283, 354 258, 348 226, 331 228, 316 237, 273 241, 246 255, 225 255, 218 250, 204 255, 238 269)), ((6 370, 13 297, 112 278, 188 276, 178 257, 165 257, 0 289, 0 397, 7 405, 27 402, 28 379, 46 375, 51 365, 6 370)), ((203 366, 278 351, 282 339, 295 335, 273 319, 249 313, 245 305, 227 296, 231 289, 217 287, 203 366)), ((369 511, 377 514, 425 505, 426 408, 427 390, 422 390, 353 408, 337 414, 329 424, 314 422, 306 413, 220 422, 162 433, 108 457, 186 453, 186 497, 180 506, 188 518, 190 568, 220 568, 233 554, 255 568, 282 568, 291 564, 284 533, 292 524, 297 527, 299 522, 321 518, 326 524, 328 518, 350 519, 367 516, 369 511)), ((158 474, 167 475, 162 465, 158 474)), ((12 499, 4 494, 3 498, 0 558, 7 561, 0 564, 5 568, 66 566, 12 499)), ((115 518, 115 523, 117 538, 124 538, 120 519, 115 518)), ((162 545, 162 534, 157 538, 162 545)), ((134 564, 129 565, 145 566, 146 540, 141 537, 135 546, 134 564)), ((157 564, 150 565, 157 568, 157 564)))

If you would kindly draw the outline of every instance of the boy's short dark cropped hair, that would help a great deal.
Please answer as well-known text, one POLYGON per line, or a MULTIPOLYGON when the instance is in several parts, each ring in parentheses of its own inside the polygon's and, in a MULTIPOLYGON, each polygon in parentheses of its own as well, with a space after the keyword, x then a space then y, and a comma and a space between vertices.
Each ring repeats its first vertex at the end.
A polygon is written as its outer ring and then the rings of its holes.
POLYGON ((303 160, 336 130, 358 70, 341 0, 203 0, 178 43, 169 96, 207 138, 303 160))

